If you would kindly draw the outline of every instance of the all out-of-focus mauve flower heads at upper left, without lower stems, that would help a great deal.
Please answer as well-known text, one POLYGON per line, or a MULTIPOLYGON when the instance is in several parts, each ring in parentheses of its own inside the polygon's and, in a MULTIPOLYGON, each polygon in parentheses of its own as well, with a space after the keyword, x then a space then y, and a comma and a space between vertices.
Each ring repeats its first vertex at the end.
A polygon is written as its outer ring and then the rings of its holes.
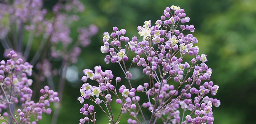
MULTIPOLYGON (((43 8, 42 0, 14 0, 10 3, 0 3, 0 39, 4 42, 8 42, 6 40, 8 39, 7 34, 12 24, 20 26, 18 28, 20 28, 19 30, 21 31, 24 25, 24 29, 30 33, 31 37, 28 39, 28 44, 32 43, 33 37, 42 37, 40 46, 43 47, 47 39, 50 39, 52 42, 52 48, 50 49, 52 57, 62 57, 71 61, 71 63, 75 63, 77 57, 80 55, 80 52, 77 51, 81 51, 78 50, 81 49, 78 46, 86 47, 89 45, 91 36, 95 35, 98 29, 93 24, 88 28, 81 27, 78 30, 79 36, 76 46, 71 47, 69 51, 64 51, 73 40, 70 37, 70 24, 79 19, 76 13, 84 11, 84 5, 79 0, 66 1, 65 4, 59 1, 52 8, 52 11, 54 16, 47 19, 47 10, 43 8), (57 43, 59 42, 62 43, 65 48, 58 48, 57 43)), ((12 45, 8 43, 8 45, 3 44, 3 46, 7 49, 12 45)), ((31 46, 28 46, 29 45, 26 47, 26 49, 28 49, 26 51, 29 53, 31 46)), ((14 48, 12 49, 15 50, 14 48)), ((41 50, 41 48, 39 50, 41 50)), ((26 59, 28 53, 24 53, 26 59)), ((34 64, 34 62, 32 64, 34 64)))

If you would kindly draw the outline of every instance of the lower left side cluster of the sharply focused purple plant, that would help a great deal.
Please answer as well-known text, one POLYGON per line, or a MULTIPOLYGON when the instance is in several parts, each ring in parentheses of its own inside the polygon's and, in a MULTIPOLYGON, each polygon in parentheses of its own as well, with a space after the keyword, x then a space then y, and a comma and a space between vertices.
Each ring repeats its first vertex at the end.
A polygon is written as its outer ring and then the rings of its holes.
MULTIPOLYGON (((86 82, 87 79, 89 78, 91 80, 98 82, 99 85, 92 86, 89 83, 85 83, 81 86, 81 88, 80 88, 81 96, 77 99, 80 101, 81 104, 83 104, 85 100, 91 100, 96 105, 98 105, 100 108, 102 108, 101 103, 103 103, 103 106, 105 105, 106 107, 110 107, 110 103, 112 101, 111 93, 113 93, 118 98, 118 99, 116 99, 116 103, 123 105, 123 107, 121 109, 124 113, 126 113, 127 111, 134 113, 134 112, 132 112, 132 110, 136 109, 136 105, 134 104, 135 99, 138 101, 140 100, 139 96, 135 97, 135 91, 136 91, 135 88, 128 89, 128 88, 126 88, 126 86, 122 85, 122 86, 120 86, 120 88, 117 91, 117 89, 114 85, 116 85, 117 82, 121 82, 121 78, 116 77, 116 79, 115 79, 116 83, 112 84, 112 79, 114 78, 112 71, 105 70, 103 72, 101 70, 101 66, 96 66, 94 68, 94 71, 92 71, 90 69, 85 69, 83 72, 85 74, 85 76, 83 76, 81 79, 83 82, 86 82), (120 95, 121 95, 120 97, 119 97, 118 93, 120 93, 120 95)), ((80 109, 80 113, 83 113, 83 115, 85 115, 85 116, 87 116, 88 113, 89 114, 96 113, 96 112, 92 112, 93 109, 90 110, 90 107, 93 108, 92 105, 89 106, 89 108, 88 108, 88 104, 84 104, 84 107, 80 109), (86 111, 87 108, 88 108, 88 111, 86 111)), ((108 111, 108 112, 110 112, 110 111, 108 111)), ((134 113, 134 115, 135 115, 135 113, 134 113)), ((109 117, 111 122, 114 123, 114 120, 112 119, 113 117, 109 116, 109 115, 107 115, 107 116, 109 117)), ((91 122, 96 121, 95 116, 92 116, 92 119, 88 119, 88 117, 85 117, 84 119, 80 119, 80 123, 82 123, 81 120, 83 123, 84 123, 84 120, 87 120, 87 121, 91 120, 91 122)))

